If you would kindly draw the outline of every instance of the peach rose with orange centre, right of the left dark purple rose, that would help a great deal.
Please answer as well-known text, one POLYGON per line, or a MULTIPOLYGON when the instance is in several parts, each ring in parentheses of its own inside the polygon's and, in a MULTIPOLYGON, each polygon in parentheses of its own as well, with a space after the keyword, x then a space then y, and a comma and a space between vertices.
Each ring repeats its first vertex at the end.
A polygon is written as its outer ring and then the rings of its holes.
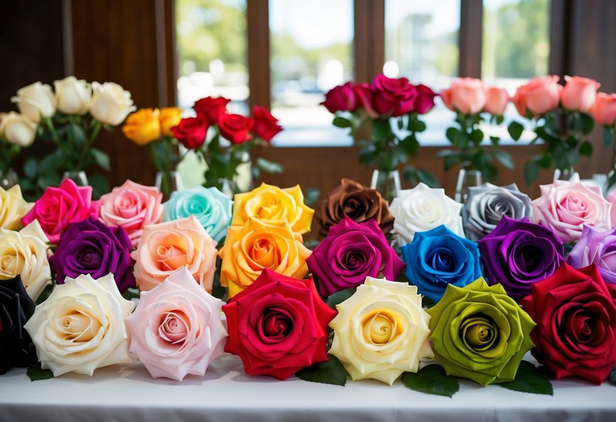
POLYGON ((188 269, 203 290, 212 290, 216 242, 194 215, 145 226, 131 257, 136 261, 134 274, 142 291, 152 290, 182 268, 188 269))

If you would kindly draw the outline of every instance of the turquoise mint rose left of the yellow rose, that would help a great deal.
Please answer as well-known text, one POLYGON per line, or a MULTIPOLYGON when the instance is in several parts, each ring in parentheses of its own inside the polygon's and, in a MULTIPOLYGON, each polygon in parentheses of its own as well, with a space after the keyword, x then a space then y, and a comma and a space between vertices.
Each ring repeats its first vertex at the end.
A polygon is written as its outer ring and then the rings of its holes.
POLYGON ((217 188, 185 189, 171 193, 169 201, 163 204, 164 221, 197 217, 205 231, 216 242, 227 236, 231 222, 233 201, 217 188))

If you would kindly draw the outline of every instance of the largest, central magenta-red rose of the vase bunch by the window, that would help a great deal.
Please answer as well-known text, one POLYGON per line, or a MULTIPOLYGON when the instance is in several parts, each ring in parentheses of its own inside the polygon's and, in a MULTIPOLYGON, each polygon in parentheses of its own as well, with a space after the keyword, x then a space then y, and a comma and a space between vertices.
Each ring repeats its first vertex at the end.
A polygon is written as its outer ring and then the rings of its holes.
POLYGON ((402 116, 413 109, 417 89, 407 78, 392 79, 384 74, 376 76, 371 86, 373 104, 379 114, 402 116))

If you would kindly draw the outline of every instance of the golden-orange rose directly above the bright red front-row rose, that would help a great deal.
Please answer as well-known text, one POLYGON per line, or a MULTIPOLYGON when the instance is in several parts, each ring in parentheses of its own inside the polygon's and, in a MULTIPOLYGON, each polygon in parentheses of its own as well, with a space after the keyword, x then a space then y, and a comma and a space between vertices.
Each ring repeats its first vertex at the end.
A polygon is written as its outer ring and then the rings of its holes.
POLYGON ((288 223, 270 226, 249 218, 245 225, 229 228, 219 252, 221 285, 229 287, 227 297, 232 298, 253 284, 264 268, 301 279, 308 273, 306 258, 310 253, 302 236, 293 233, 288 223))

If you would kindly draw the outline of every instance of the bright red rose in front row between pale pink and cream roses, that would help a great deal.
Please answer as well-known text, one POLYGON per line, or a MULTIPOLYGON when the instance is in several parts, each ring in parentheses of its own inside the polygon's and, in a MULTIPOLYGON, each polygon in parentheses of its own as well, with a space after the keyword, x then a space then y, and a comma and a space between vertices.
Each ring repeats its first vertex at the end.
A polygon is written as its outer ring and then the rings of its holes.
POLYGON ((312 277, 299 280, 264 269, 222 306, 229 337, 248 375, 286 380, 301 368, 327 360, 327 325, 336 316, 319 297, 312 277))

